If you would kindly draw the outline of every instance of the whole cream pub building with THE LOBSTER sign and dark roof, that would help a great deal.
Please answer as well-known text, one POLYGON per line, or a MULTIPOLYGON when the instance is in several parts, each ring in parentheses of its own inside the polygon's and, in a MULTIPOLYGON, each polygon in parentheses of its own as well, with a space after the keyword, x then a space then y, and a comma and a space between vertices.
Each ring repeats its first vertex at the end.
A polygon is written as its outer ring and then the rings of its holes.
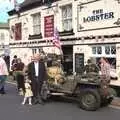
POLYGON ((52 43, 57 27, 66 72, 80 73, 89 58, 99 64, 106 57, 120 77, 119 0, 25 0, 8 14, 11 56, 27 64, 36 52, 59 55, 52 43))

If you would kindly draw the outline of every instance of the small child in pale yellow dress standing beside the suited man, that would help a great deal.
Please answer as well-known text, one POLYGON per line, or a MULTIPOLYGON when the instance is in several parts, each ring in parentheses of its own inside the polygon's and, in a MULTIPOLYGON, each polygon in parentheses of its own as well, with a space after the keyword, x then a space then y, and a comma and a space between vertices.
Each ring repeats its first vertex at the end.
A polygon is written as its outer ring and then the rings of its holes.
POLYGON ((25 76, 25 95, 24 95, 24 100, 22 102, 22 105, 25 104, 25 102, 28 99, 29 105, 32 105, 32 90, 31 90, 31 85, 30 85, 31 81, 28 79, 28 76, 25 76))

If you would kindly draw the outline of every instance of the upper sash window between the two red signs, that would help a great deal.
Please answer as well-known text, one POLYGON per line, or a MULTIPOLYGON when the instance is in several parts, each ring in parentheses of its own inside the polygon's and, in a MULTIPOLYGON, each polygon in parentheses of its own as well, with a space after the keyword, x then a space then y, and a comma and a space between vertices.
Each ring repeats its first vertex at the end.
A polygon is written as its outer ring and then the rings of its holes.
POLYGON ((40 13, 36 13, 36 14, 33 14, 32 17, 33 17, 33 34, 38 35, 41 32, 41 29, 40 29, 41 28, 41 22, 40 22, 41 15, 40 13))

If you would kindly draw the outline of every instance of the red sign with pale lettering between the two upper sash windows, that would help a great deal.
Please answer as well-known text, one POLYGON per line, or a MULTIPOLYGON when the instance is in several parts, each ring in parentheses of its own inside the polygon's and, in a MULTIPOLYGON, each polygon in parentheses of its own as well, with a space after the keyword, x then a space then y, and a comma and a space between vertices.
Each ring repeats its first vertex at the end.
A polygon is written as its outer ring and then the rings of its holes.
POLYGON ((54 15, 44 18, 44 37, 54 36, 54 15))

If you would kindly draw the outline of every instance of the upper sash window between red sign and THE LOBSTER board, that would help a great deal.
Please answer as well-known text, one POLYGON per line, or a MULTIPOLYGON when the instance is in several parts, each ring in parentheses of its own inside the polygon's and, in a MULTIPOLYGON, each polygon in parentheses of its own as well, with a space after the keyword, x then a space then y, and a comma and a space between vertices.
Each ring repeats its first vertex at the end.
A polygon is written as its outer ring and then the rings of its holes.
POLYGON ((62 7, 62 28, 63 31, 72 30, 72 5, 62 7))

